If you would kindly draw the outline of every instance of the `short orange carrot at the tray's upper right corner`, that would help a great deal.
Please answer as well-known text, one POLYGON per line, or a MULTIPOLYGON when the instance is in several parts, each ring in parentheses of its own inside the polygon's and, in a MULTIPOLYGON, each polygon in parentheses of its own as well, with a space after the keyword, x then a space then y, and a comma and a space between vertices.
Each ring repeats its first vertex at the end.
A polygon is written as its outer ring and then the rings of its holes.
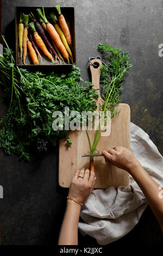
POLYGON ((56 8, 57 11, 58 11, 58 15, 59 15, 58 20, 59 20, 59 24, 60 24, 60 26, 61 26, 61 28, 62 28, 62 31, 63 31, 64 34, 65 34, 66 40, 67 40, 67 42, 68 42, 69 45, 72 45, 72 39, 71 39, 70 30, 69 30, 69 28, 68 28, 68 26, 67 26, 67 23, 66 23, 66 21, 65 21, 64 15, 61 14, 59 4, 58 4, 57 6, 55 6, 55 8, 56 8))

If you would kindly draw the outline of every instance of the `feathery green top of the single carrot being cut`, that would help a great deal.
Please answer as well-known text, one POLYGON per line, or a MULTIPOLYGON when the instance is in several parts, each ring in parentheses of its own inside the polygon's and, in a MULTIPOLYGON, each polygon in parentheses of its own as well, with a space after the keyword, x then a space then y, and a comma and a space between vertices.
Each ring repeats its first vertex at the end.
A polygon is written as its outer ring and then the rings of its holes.
MULTIPOLYGON (((105 118, 106 111, 108 110, 111 113, 112 119, 120 112, 120 109, 115 111, 115 106, 120 103, 123 79, 132 65, 129 62, 130 57, 128 52, 121 52, 120 48, 113 48, 106 44, 99 44, 98 48, 99 51, 109 54, 108 65, 103 64, 101 72, 101 84, 104 89, 103 97, 105 100, 105 103, 101 105, 101 109, 103 111, 101 120, 105 118)), ((102 122, 99 123, 98 130, 95 132, 92 144, 90 142, 89 134, 87 133, 90 145, 90 154, 95 154, 95 151, 97 150, 97 143, 101 137, 101 123, 102 122)), ((93 161, 93 157, 91 160, 93 161)))

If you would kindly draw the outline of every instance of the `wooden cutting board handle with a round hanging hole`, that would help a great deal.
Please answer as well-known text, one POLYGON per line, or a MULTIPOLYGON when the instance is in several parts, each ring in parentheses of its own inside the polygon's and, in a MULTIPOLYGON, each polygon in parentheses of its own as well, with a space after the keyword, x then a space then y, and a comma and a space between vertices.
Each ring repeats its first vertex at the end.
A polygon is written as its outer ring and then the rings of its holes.
POLYGON ((92 64, 97 65, 97 68, 96 68, 95 66, 93 66, 90 63, 91 80, 92 80, 92 83, 95 84, 95 86, 93 88, 98 89, 97 93, 98 93, 99 97, 97 99, 97 110, 99 111, 99 103, 101 105, 104 103, 104 100, 102 99, 102 97, 100 95, 100 88, 99 88, 99 78, 101 76, 102 62, 99 59, 92 59, 91 62, 92 62, 92 64))

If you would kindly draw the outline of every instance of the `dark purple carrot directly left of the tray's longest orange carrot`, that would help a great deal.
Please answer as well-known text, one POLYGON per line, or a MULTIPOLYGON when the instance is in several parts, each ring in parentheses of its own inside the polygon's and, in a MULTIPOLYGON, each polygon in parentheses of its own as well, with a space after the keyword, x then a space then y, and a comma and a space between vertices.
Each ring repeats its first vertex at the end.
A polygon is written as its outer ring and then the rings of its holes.
POLYGON ((51 50, 52 53, 54 54, 55 58, 57 57, 58 60, 60 61, 60 58, 59 58, 57 52, 55 52, 55 50, 54 50, 54 48, 53 48, 51 42, 49 42, 49 40, 48 40, 48 38, 47 38, 47 35, 46 35, 44 29, 42 28, 41 24, 35 19, 33 13, 30 13, 30 17, 33 19, 33 21, 34 21, 34 23, 35 23, 36 31, 39 32, 39 34, 40 34, 40 36, 41 36, 43 42, 45 42, 45 45, 47 46, 47 48, 48 48, 49 50, 51 50))

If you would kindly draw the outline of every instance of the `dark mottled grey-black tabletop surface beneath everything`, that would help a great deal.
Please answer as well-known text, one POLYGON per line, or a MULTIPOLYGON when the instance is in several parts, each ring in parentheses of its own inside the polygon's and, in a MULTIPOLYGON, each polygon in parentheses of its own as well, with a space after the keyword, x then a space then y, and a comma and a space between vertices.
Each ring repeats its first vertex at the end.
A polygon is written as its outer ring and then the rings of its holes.
MULTIPOLYGON (((76 8, 77 65, 84 79, 90 79, 88 58, 99 54, 99 42, 129 51, 133 68, 125 81, 122 102, 130 105, 131 121, 149 134, 162 154, 163 57, 158 56, 158 45, 163 43, 163 1, 2 0, 2 34, 10 41, 9 46, 15 47, 16 5, 54 6, 58 3, 61 7, 76 8), (152 75, 153 78, 149 78, 152 75)), ((67 189, 58 185, 58 147, 45 155, 32 155, 29 163, 1 153, 1 185, 4 188, 2 245, 57 244, 67 195, 67 189)), ((79 245, 93 243, 96 244, 96 240, 92 237, 79 234, 79 245)), ((149 208, 136 227, 112 245, 129 243, 161 245, 160 228, 149 208)))

